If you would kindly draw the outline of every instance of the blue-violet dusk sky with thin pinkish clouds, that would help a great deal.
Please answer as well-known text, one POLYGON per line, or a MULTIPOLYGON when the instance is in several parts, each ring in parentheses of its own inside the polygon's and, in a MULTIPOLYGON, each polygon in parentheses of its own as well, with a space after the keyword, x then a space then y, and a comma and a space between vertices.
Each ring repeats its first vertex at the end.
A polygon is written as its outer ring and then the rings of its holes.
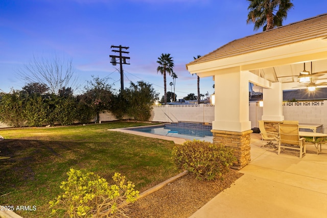
MULTIPOLYGON (((327 12, 325 0, 293 4, 284 25, 327 12)), ((197 93, 196 76, 185 67, 193 57, 256 33, 246 24, 247 7, 246 0, 0 0, 0 89, 25 85, 17 71, 33 55, 72 59, 82 87, 91 76, 109 76, 108 82, 119 89, 120 74, 109 55, 115 55, 111 45, 123 45, 130 47, 125 87, 144 80, 161 98, 164 80, 156 61, 170 53, 179 99, 197 93)), ((168 76, 168 91, 170 82, 168 76)), ((200 92, 213 93, 213 84, 211 77, 201 78, 200 92)))

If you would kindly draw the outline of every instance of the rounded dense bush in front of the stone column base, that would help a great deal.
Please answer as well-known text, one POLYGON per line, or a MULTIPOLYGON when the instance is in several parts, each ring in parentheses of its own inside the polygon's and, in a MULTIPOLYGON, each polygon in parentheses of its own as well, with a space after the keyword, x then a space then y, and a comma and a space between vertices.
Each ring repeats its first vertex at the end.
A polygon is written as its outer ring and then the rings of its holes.
POLYGON ((236 161, 232 149, 207 141, 186 141, 173 148, 173 159, 177 167, 195 174, 199 180, 222 178, 229 166, 236 161))

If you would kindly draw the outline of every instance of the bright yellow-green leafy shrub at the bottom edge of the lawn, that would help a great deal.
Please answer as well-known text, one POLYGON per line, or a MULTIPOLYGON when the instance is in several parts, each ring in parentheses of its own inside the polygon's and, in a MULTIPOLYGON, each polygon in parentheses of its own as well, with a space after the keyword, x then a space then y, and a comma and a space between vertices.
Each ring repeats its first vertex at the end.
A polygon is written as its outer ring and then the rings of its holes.
POLYGON ((127 204, 135 202, 138 196, 134 184, 130 181, 126 184, 119 173, 112 177, 114 185, 94 173, 83 174, 73 168, 67 175, 68 180, 60 186, 64 192, 49 202, 52 214, 63 210, 63 217, 126 216, 127 204))

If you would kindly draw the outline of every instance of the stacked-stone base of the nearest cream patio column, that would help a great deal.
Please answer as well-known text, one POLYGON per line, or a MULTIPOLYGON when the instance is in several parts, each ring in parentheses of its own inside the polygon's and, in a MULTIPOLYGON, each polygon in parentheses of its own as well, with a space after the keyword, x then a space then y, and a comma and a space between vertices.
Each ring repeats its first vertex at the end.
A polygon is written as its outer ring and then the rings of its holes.
POLYGON ((233 149, 237 161, 234 162, 231 168, 241 169, 251 161, 250 133, 252 132, 252 130, 244 132, 212 130, 215 144, 223 144, 233 149))

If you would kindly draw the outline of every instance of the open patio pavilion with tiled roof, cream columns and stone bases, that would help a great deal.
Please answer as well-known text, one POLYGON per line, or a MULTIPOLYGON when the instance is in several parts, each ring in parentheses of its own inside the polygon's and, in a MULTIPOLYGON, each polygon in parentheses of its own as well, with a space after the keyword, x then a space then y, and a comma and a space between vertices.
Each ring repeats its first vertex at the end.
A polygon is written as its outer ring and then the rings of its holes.
POLYGON ((313 87, 326 87, 327 14, 233 40, 186 68, 213 77, 214 142, 235 150, 235 168, 240 169, 251 160, 249 82, 262 89, 262 120, 269 129, 284 121, 283 90, 303 88, 313 94, 313 87), (310 79, 300 83, 304 73, 310 79))

